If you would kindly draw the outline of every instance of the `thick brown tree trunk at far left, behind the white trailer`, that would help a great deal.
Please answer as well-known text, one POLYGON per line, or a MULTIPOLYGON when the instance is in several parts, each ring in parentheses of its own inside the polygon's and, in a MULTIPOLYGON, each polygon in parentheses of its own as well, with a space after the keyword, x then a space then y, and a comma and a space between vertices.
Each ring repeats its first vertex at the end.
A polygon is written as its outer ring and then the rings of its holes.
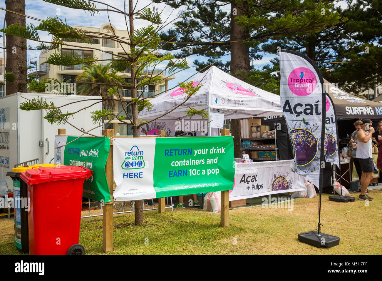
MULTIPOLYGON (((25 15, 24 0, 5 0, 7 10, 25 15)), ((5 13, 6 26, 19 23, 25 26, 25 17, 15 13, 5 13)), ((6 81, 6 93, 13 94, 17 92, 26 92, 27 88, 27 66, 26 66, 26 39, 6 35, 6 67, 7 73, 15 73, 16 79, 12 83, 6 81)), ((4 59, 5 60, 5 59, 4 59)))

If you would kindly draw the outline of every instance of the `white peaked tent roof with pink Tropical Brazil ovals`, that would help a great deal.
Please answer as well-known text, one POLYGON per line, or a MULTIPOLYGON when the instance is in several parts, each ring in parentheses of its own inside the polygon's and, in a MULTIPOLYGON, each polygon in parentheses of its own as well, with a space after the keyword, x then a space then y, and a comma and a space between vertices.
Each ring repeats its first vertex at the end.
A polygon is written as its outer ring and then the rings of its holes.
POLYGON ((139 119, 149 120, 161 115, 163 115, 161 120, 178 119, 185 117, 189 107, 198 110, 210 107, 212 112, 223 113, 224 119, 283 115, 280 96, 245 83, 215 66, 200 73, 192 81, 194 86, 197 84, 202 86, 186 101, 187 106, 179 106, 166 114, 168 110, 186 99, 183 94, 184 89, 177 88, 152 99, 150 102, 154 107, 150 111, 142 110, 139 119))

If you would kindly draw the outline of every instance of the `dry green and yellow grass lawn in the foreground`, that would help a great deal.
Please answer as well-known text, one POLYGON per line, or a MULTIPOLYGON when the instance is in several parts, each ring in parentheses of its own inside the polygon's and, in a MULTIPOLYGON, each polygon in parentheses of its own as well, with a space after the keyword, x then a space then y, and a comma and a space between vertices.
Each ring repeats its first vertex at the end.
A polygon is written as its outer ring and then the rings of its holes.
MULTIPOLYGON (((322 232, 340 237, 340 245, 330 249, 297 239, 298 233, 317 226, 316 197, 294 200, 293 210, 262 206, 230 210, 229 227, 220 226, 220 213, 191 208, 165 214, 145 211, 142 226, 134 226, 133 213, 115 215, 110 254, 382 254, 382 191, 370 192, 374 201, 369 206, 358 195, 354 193, 356 200, 350 203, 322 195, 322 232)), ((13 220, 0 219, 0 253, 18 254, 13 235, 13 220)), ((104 254, 100 217, 81 220, 79 243, 87 254, 104 254)))

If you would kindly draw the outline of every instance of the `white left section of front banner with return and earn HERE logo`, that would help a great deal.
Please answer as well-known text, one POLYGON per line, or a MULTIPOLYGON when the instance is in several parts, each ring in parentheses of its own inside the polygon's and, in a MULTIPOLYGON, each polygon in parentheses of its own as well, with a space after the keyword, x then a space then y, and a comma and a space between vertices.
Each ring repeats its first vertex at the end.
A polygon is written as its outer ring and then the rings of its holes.
POLYGON ((155 138, 114 138, 115 201, 156 198, 154 190, 155 138))

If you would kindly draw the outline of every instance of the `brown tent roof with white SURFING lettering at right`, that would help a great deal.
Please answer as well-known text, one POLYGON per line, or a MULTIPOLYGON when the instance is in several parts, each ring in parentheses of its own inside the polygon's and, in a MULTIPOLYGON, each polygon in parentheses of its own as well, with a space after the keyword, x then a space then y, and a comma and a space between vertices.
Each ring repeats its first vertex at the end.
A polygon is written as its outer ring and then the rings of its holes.
POLYGON ((349 94, 324 79, 325 90, 332 98, 337 118, 356 119, 382 117, 382 104, 349 94))

